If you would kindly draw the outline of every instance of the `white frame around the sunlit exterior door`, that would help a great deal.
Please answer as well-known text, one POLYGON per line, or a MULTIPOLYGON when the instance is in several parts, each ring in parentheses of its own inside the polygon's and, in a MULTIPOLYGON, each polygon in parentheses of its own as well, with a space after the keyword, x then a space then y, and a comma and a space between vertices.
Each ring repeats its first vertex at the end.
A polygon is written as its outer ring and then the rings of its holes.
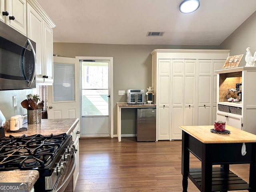
MULTIPOLYGON (((110 127, 110 137, 114 138, 114 99, 113 99, 113 90, 114 90, 114 84, 113 84, 113 57, 87 57, 87 56, 76 56, 77 59, 80 60, 102 60, 102 61, 108 61, 109 62, 109 89, 110 89, 110 104, 109 104, 109 127, 110 127)), ((81 66, 80 66, 81 69, 81 66)), ((81 70, 80 70, 80 82, 81 82, 81 70)), ((81 87, 81 84, 80 84, 81 87)), ((80 92, 80 98, 82 97, 82 92, 80 92)), ((80 109, 82 109, 82 103, 80 102, 80 109)), ((80 119, 82 119, 82 113, 80 113, 80 119)), ((82 126, 82 125, 81 125, 82 126)))

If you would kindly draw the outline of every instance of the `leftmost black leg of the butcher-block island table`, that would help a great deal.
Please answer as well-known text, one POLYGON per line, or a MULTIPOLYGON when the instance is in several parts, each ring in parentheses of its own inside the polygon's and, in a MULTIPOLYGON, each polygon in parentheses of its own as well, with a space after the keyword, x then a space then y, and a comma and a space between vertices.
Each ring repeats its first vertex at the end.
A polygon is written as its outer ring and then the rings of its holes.
POLYGON ((188 192, 188 172, 189 172, 189 151, 188 151, 188 134, 182 131, 182 156, 181 156, 181 173, 182 173, 182 192, 188 192))

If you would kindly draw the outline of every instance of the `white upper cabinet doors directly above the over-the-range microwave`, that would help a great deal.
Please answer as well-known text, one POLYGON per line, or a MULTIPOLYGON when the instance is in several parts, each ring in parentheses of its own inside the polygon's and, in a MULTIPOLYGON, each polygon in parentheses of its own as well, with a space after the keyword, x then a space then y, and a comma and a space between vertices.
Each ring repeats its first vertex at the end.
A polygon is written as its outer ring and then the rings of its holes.
POLYGON ((1 0, 0 20, 26 36, 26 0, 1 0))

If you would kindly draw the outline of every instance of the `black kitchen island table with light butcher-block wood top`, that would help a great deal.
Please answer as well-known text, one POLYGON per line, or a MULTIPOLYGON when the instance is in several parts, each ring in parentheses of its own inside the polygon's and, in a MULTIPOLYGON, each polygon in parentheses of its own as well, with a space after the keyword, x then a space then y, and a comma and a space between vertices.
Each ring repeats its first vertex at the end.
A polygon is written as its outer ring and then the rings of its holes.
POLYGON ((256 135, 227 125, 230 134, 212 133, 213 126, 180 128, 183 192, 187 192, 188 178, 201 192, 256 191, 256 135), (190 153, 202 162, 201 168, 189 167, 190 153), (249 183, 231 172, 230 164, 250 164, 249 183))

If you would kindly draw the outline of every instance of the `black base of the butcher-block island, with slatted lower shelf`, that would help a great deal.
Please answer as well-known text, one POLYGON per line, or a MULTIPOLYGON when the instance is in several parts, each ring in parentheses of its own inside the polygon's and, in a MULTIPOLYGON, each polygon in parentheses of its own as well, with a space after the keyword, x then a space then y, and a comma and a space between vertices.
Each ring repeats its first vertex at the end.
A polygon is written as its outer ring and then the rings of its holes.
POLYGON ((246 155, 242 156, 242 143, 205 144, 182 131, 183 192, 187 192, 188 178, 201 192, 256 192, 256 144, 245 145, 246 155), (189 168, 190 153, 202 162, 201 168, 189 168), (229 170, 230 164, 250 164, 249 184, 229 170))

